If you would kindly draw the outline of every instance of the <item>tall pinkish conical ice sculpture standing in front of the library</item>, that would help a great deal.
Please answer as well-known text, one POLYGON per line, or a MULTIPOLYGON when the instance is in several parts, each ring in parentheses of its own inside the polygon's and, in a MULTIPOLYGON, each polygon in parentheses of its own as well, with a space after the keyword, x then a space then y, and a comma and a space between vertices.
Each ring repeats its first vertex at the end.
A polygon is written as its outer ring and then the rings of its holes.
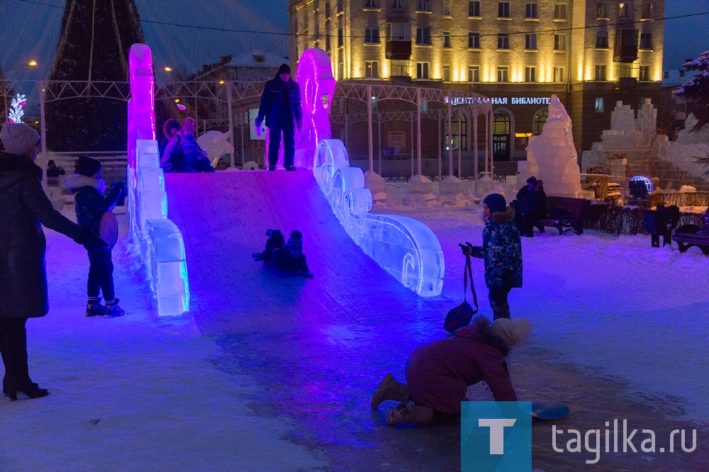
POLYGON ((520 173, 518 181, 535 175, 544 181, 547 195, 581 194, 581 169, 571 134, 571 118, 556 95, 552 95, 549 103, 549 118, 542 134, 527 146, 527 162, 528 174, 520 173))

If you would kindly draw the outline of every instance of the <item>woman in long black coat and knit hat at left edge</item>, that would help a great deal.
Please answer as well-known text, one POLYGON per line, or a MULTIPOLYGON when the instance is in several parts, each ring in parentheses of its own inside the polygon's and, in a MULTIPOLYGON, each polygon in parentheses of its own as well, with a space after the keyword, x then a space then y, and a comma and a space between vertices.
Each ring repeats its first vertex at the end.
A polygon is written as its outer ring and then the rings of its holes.
POLYGON ((91 247, 98 236, 55 210, 42 189, 42 169, 34 164, 40 137, 25 123, 5 123, 0 140, 0 354, 5 365, 3 393, 29 398, 48 395, 30 380, 28 318, 48 313, 46 240, 42 225, 91 247))

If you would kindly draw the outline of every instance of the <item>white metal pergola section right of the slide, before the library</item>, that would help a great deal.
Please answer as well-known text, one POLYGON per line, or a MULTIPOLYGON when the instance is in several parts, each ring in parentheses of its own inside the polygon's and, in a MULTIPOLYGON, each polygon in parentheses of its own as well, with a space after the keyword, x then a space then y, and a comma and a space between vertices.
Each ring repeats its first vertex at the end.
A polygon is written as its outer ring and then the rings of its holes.
MULTIPOLYGON (((451 130, 452 120, 460 120, 463 116, 472 119, 473 122, 473 149, 474 149, 474 169, 478 169, 478 118, 485 116, 485 172, 492 170, 493 154, 491 152, 491 129, 492 129, 492 101, 491 99, 469 91, 432 89, 428 87, 402 86, 395 84, 367 84, 366 82, 338 82, 335 88, 335 97, 344 97, 366 103, 367 105, 367 125, 369 141, 369 171, 374 172, 374 134, 372 123, 374 120, 380 126, 381 123, 389 120, 408 120, 412 125, 413 133, 413 111, 386 111, 384 113, 372 113, 372 103, 383 101, 401 101, 411 103, 415 106, 416 123, 416 174, 421 174, 421 119, 432 118, 438 120, 439 142, 442 140, 443 120, 447 120, 448 129, 451 130), (431 105, 435 108, 429 108, 431 105), (422 110, 425 105, 425 110, 422 110)), ((330 120, 335 123, 344 124, 359 123, 364 120, 363 113, 345 113, 343 115, 330 115, 330 120)), ((459 128, 460 133, 460 128, 459 128)), ((460 169, 461 146, 458 146, 458 169, 460 169)), ((380 147, 381 152, 381 147, 380 147)), ((438 169, 441 174, 442 147, 438 147, 438 169)), ((449 175, 453 175, 453 147, 448 145, 449 175)), ((412 154, 413 173, 413 154, 412 154)), ((478 186, 478 173, 474 172, 475 189, 478 186)))

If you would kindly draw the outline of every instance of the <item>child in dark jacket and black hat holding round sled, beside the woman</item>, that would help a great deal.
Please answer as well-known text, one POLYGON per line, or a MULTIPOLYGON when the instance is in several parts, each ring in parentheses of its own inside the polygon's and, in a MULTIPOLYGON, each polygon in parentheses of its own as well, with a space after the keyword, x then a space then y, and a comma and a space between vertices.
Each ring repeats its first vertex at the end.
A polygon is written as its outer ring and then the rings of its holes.
MULTIPOLYGON (((101 162, 90 157, 79 157, 76 174, 65 178, 65 183, 72 192, 77 206, 77 223, 99 233, 99 223, 107 211, 113 210, 124 193, 123 182, 118 182, 108 196, 104 196, 106 182, 101 179, 101 162)), ((106 315, 110 318, 123 315, 123 308, 118 306, 118 298, 113 291, 113 262, 111 249, 89 249, 89 281, 86 291, 89 300, 86 303, 86 316, 106 315), (101 305, 99 293, 104 294, 106 305, 101 305)))

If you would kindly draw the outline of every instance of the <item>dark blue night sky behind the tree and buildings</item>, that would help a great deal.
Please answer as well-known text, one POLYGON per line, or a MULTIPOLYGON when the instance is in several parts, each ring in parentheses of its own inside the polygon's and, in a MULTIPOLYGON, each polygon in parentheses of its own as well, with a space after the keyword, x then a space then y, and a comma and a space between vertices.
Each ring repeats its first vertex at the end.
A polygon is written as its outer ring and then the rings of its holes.
MULTIPOLYGON (((156 70, 169 65, 187 75, 220 56, 237 56, 250 47, 288 54, 286 35, 235 33, 148 23, 157 21, 229 30, 287 33, 288 0, 136 0, 143 32, 156 70)), ((11 79, 42 79, 48 74, 60 34, 62 0, 0 0, 0 67, 11 79), (34 69, 15 66, 34 59, 34 69)), ((665 16, 709 12, 709 0, 667 0, 665 16)), ((709 14, 668 20, 663 69, 678 69, 688 58, 709 50, 703 33, 709 14)), ((160 75, 157 77, 161 79, 160 75)))

